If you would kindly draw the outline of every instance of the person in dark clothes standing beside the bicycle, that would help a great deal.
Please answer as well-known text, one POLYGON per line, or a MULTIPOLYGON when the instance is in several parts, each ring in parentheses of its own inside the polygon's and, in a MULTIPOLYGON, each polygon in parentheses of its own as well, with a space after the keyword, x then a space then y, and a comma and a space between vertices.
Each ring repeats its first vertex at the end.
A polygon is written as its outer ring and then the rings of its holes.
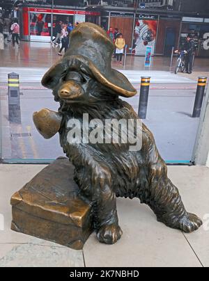
POLYGON ((193 58, 194 58, 194 52, 195 52, 195 42, 192 36, 189 34, 187 36, 187 40, 184 44, 185 49, 185 67, 186 72, 188 74, 192 74, 192 68, 193 68, 193 58))

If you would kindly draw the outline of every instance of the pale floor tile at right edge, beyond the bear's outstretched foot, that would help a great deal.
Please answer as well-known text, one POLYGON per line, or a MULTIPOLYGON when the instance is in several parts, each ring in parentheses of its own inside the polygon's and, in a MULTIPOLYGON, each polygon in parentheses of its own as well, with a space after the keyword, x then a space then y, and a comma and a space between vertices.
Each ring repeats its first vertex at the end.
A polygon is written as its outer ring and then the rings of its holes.
POLYGON ((209 169, 206 167, 172 167, 169 173, 180 191, 188 211, 203 219, 203 227, 185 234, 203 266, 209 266, 209 169))

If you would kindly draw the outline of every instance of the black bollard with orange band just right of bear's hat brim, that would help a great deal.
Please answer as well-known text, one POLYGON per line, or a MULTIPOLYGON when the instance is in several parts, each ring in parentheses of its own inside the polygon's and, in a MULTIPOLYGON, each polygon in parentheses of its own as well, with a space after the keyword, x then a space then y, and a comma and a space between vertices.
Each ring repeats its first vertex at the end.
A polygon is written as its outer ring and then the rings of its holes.
POLYGON ((141 90, 139 98, 139 118, 146 119, 148 95, 150 90, 150 77, 141 77, 141 90))

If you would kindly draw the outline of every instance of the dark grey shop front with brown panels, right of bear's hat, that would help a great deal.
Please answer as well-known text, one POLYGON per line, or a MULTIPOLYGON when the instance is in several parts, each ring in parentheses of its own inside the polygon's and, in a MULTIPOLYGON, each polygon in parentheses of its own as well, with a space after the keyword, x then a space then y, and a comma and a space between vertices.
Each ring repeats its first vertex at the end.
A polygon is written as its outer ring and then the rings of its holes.
MULTIPOLYGON (((93 8, 88 8, 93 10, 93 8)), ((99 8, 96 8, 98 11, 99 8)), ((153 10, 152 13, 132 8, 100 8, 101 26, 118 28, 128 48, 137 56, 145 56, 146 47, 152 47, 152 54, 171 56, 172 49, 183 45, 188 33, 196 33, 196 56, 209 58, 209 18, 185 17, 185 13, 153 10), (141 11, 142 12, 142 11, 141 11)))

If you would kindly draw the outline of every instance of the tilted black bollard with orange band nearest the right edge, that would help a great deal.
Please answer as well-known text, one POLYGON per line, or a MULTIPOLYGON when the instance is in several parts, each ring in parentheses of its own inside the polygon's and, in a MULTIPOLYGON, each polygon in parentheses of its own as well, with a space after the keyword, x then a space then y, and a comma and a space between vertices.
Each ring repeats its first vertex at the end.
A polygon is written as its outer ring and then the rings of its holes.
POLYGON ((199 118, 201 115, 203 97, 205 95, 205 90, 206 90, 206 83, 207 83, 207 77, 199 77, 197 89, 196 89, 196 98, 194 102, 194 110, 192 114, 193 118, 199 118))

